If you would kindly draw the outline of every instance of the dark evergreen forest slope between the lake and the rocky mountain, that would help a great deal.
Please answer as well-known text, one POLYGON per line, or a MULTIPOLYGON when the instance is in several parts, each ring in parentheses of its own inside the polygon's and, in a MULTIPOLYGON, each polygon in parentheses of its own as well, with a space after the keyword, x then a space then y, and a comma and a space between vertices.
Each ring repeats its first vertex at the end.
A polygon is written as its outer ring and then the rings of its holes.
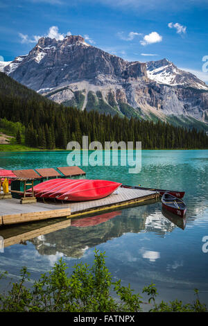
POLYGON ((141 141, 142 148, 208 148, 205 132, 175 127, 161 121, 112 117, 96 111, 80 111, 49 101, 0 73, 0 128, 6 121, 21 122, 17 139, 35 148, 66 148, 67 142, 141 141), (21 133, 24 132, 24 135, 21 133), (20 134, 20 135, 19 135, 20 134))

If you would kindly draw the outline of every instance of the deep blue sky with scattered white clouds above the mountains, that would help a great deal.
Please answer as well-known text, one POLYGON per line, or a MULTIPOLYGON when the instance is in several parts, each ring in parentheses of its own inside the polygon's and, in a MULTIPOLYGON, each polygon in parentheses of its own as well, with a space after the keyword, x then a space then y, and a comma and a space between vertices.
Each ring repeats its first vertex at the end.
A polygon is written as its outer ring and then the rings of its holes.
POLYGON ((0 0, 0 60, 28 53, 39 36, 71 33, 125 60, 168 58, 208 81, 207 17, 207 0, 0 0))

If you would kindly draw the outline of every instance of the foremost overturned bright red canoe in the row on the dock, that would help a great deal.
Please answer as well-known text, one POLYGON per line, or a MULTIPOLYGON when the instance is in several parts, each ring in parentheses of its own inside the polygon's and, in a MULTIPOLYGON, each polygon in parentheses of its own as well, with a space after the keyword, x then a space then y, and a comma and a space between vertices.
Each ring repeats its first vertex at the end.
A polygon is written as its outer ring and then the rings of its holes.
POLYGON ((107 180, 87 180, 56 198, 72 201, 95 200, 109 196, 121 185, 119 182, 107 180))

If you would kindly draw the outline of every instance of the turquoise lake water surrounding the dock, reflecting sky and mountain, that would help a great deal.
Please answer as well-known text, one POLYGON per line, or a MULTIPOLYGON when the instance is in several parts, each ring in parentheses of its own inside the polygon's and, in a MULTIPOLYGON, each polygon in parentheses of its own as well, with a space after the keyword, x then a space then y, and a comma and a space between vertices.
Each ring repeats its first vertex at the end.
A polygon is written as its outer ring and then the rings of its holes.
MULTIPOLYGON (((65 151, 0 152, 0 166, 67 166, 67 155, 65 151)), ((8 271, 17 280, 20 268, 27 266, 35 280, 63 257, 70 272, 80 261, 92 265, 96 248, 105 251, 113 280, 130 283, 135 291, 154 283, 158 300, 190 302, 197 288, 200 299, 208 304, 208 151, 142 151, 137 174, 128 173, 129 166, 80 167, 87 178, 185 191, 184 230, 162 214, 160 202, 119 209, 103 223, 87 226, 84 218, 83 223, 76 219, 67 228, 4 248, 0 271, 8 271)), ((1 280, 5 289, 6 282, 1 280)))

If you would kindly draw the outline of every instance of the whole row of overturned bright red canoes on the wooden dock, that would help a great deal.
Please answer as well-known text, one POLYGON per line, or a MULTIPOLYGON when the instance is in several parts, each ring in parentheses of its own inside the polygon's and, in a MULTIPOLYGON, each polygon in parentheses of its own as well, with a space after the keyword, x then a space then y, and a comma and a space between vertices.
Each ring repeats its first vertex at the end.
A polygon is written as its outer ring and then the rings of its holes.
MULTIPOLYGON (((33 190, 37 198, 85 201, 107 197, 120 186, 119 182, 107 180, 52 179, 36 185, 33 190)), ((32 189, 28 189, 30 191, 32 189)))

